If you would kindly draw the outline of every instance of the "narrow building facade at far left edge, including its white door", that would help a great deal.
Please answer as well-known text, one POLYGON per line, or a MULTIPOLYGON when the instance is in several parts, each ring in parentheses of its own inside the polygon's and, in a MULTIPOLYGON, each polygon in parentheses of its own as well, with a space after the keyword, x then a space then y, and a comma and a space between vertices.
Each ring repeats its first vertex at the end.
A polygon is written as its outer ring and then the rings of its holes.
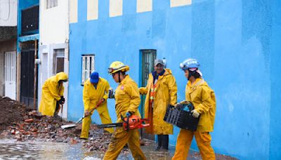
POLYGON ((16 99, 17 0, 0 1, 0 95, 16 99))

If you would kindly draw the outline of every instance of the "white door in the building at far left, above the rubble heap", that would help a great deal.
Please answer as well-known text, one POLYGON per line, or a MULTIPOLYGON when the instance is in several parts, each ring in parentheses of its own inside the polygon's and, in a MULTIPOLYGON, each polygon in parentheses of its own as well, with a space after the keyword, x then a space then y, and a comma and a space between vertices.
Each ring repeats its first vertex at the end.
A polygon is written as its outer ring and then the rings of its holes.
POLYGON ((5 53, 5 96, 15 100, 15 51, 5 53))

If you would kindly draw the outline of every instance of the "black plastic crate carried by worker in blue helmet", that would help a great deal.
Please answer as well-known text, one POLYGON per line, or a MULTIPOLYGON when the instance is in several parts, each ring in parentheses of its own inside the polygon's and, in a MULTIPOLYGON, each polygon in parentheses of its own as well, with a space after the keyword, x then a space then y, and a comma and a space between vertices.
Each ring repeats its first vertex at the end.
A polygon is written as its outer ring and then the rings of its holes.
POLYGON ((179 128, 196 131, 200 117, 194 118, 191 112, 186 112, 169 105, 166 109, 164 121, 179 128))

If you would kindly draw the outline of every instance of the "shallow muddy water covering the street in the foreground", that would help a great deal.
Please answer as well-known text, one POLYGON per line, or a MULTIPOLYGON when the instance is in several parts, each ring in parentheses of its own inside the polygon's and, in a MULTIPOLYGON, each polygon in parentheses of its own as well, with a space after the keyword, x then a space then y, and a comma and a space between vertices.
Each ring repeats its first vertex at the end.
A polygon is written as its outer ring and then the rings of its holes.
MULTIPOLYGON (((169 152, 155 152, 155 146, 142 146, 148 159, 171 159, 174 149, 169 152)), ((89 152, 81 143, 70 145, 62 142, 16 142, 0 138, 0 159, 102 159, 103 153, 89 152)), ((120 154, 118 159, 133 159, 131 154, 120 154)))

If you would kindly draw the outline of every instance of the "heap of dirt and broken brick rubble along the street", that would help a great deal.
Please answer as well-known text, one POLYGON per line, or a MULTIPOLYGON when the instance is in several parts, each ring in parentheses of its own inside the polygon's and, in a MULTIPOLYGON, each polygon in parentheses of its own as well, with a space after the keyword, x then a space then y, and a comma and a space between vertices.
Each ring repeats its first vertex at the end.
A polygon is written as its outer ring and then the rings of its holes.
MULTIPOLYGON (((1 115, 5 115, 5 119, 8 120, 2 122, 0 119, 0 126, 2 125, 0 134, 6 138, 14 138, 21 142, 27 140, 65 142, 70 145, 82 142, 85 149, 97 152, 105 152, 110 143, 111 134, 104 133, 103 129, 97 128, 95 124, 90 126, 89 140, 80 140, 81 124, 75 128, 62 129, 60 126, 73 122, 62 120, 59 116, 41 116, 10 98, 0 97, 0 109, 3 111, 1 115)), ((129 154, 129 149, 124 148, 122 153, 129 154)))

